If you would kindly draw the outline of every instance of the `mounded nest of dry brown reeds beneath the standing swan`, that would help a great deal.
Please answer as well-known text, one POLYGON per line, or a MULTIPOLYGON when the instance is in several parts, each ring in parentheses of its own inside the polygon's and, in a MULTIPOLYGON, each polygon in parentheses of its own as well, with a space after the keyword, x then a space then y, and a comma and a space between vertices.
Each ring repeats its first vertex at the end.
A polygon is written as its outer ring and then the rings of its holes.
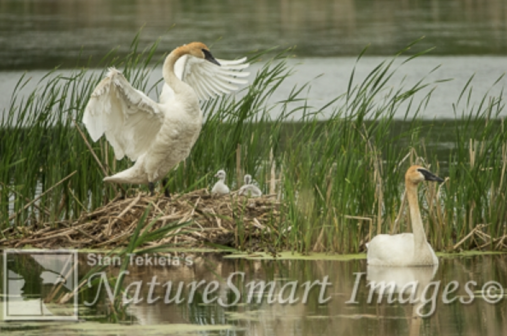
POLYGON ((212 196, 206 189, 171 198, 140 193, 133 198, 115 199, 76 220, 59 222, 58 228, 11 227, 4 232, 8 238, 0 243, 16 248, 114 248, 127 246, 143 221, 141 230, 177 228, 143 243, 144 246, 222 245, 265 250, 270 245, 265 239, 276 233, 273 223, 279 220, 280 203, 275 195, 212 196), (183 223, 188 224, 182 226, 183 223), (13 238, 16 235, 19 238, 13 238))

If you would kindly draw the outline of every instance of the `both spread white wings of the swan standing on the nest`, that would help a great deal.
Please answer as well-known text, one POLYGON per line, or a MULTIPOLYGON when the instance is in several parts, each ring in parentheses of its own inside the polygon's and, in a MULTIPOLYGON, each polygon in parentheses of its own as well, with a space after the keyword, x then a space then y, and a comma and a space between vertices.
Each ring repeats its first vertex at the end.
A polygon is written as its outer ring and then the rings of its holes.
MULTIPOLYGON (((194 88, 200 100, 227 94, 247 84, 249 72, 246 57, 237 60, 221 60, 216 65, 204 59, 185 55, 180 57, 174 72, 178 78, 194 88)), ((174 95, 164 83, 160 103, 165 104, 174 95)), ((107 76, 93 91, 85 108, 83 122, 93 141, 102 134, 111 143, 115 157, 125 155, 135 161, 146 152, 159 132, 164 115, 159 105, 147 95, 134 89, 123 74, 110 68, 107 76)))

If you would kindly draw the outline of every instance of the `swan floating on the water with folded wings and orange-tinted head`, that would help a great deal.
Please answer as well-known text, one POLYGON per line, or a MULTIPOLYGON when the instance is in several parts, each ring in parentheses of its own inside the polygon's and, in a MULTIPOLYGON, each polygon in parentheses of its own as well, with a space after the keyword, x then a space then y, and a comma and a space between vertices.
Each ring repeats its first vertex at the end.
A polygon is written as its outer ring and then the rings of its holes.
POLYGON ((422 181, 444 180, 421 166, 412 166, 405 174, 405 189, 410 207, 412 233, 377 235, 367 244, 367 264, 381 266, 431 266, 439 259, 426 241, 417 200, 417 185, 422 181))

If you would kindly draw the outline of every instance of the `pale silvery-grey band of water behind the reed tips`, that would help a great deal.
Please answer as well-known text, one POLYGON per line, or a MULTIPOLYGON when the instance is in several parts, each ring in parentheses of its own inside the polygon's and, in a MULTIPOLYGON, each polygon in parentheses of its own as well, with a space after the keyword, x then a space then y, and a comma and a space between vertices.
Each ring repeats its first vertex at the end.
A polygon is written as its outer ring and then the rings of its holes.
MULTIPOLYGON (((370 56, 362 58, 356 64, 355 57, 333 57, 333 58, 297 58, 289 60, 288 66, 293 68, 293 74, 286 79, 282 85, 275 91, 268 104, 273 104, 285 100, 294 87, 301 87, 309 83, 309 89, 304 90, 301 97, 307 99, 307 104, 313 106, 312 110, 327 104, 329 101, 344 94, 347 91, 350 76, 355 66, 354 85, 360 84, 368 74, 381 62, 390 60, 389 57, 370 56)), ((401 60, 396 61, 394 67, 400 66, 401 60)), ((253 64, 250 68, 250 83, 255 78, 260 64, 253 64)), ((421 90, 415 95, 415 102, 418 104, 430 91, 431 98, 426 108, 419 114, 424 119, 454 119, 455 116, 469 113, 476 110, 483 97, 498 97, 503 94, 502 89, 507 86, 507 78, 502 77, 507 70, 507 57, 499 56, 456 56, 456 57, 419 57, 401 65, 394 76, 386 85, 385 94, 388 90, 410 89, 416 82, 424 79, 428 84, 426 89, 421 90), (437 70, 435 68, 439 67, 437 70), (462 103, 454 108, 465 84, 471 77, 474 77, 469 89, 470 105, 466 107, 462 103), (497 80, 500 79, 498 82, 497 80), (448 80, 445 82, 438 82, 448 80), (497 82, 495 84, 495 82, 497 82), (475 107, 474 107, 475 106, 475 107)), ((97 70, 99 71, 99 70, 97 70)), ((57 73, 68 74, 69 70, 58 71, 57 73)), ((152 72, 147 87, 152 87, 161 78, 162 69, 156 68, 152 72)), ((0 71, 0 110, 8 109, 11 102, 12 92, 16 87, 23 72, 21 71, 0 71)), ((39 81, 47 75, 47 70, 30 70, 27 72, 27 78, 31 78, 25 89, 18 93, 19 97, 27 96, 39 81)), ((158 85, 159 91, 162 85, 158 85)), ((150 94, 154 100, 158 100, 157 91, 153 90, 150 94)), ((384 94, 378 95, 381 101, 384 94)), ((466 95, 468 97, 468 94, 466 95)), ((487 98, 489 99, 489 98, 487 98)), ((18 98, 19 101, 19 98, 18 98)), ((291 108, 302 105, 303 102, 293 103, 291 108)), ((411 119, 416 111, 417 104, 414 104, 407 114, 408 105, 402 105, 396 110, 395 118, 404 119, 405 115, 411 119)), ((344 100, 339 100, 331 107, 326 108, 318 115, 319 119, 327 119, 333 113, 333 107, 343 106, 344 100)), ((278 109, 273 109, 273 117, 278 114, 278 109)), ((507 111, 502 111, 500 116, 507 115, 507 111)), ((292 118, 299 120, 302 113, 295 113, 292 118)))

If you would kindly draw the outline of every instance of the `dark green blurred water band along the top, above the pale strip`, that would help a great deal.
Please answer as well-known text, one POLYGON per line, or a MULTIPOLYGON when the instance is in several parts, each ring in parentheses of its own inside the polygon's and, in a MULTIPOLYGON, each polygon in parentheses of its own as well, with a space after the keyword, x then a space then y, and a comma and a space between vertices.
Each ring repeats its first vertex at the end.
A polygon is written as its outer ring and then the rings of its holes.
POLYGON ((392 55, 421 36, 432 55, 507 53, 503 0, 0 0, 0 68, 41 69, 203 41, 223 57, 297 46, 299 57, 392 55), (170 29, 170 31, 169 31, 170 29), (169 31, 169 32, 168 32, 169 31))

